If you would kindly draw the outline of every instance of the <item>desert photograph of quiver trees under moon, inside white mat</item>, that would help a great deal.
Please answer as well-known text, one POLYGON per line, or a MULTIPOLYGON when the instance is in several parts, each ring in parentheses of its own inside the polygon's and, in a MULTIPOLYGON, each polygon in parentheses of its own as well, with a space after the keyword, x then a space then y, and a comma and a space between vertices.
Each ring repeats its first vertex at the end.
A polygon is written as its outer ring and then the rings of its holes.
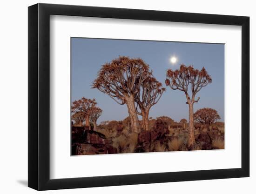
POLYGON ((71 155, 224 149, 224 46, 71 37, 71 155))

